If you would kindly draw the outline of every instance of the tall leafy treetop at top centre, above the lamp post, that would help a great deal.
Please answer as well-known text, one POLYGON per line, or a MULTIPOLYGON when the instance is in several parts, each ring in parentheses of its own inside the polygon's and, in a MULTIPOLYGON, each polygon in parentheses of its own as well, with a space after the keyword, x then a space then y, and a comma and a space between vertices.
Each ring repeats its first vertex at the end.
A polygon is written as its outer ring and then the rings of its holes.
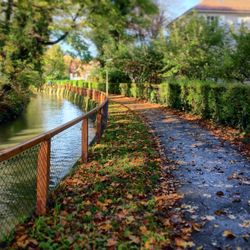
POLYGON ((98 6, 89 19, 90 30, 86 35, 96 45, 103 65, 107 45, 116 50, 120 43, 140 38, 141 30, 150 26, 152 17, 158 13, 153 0, 105 0, 98 6))

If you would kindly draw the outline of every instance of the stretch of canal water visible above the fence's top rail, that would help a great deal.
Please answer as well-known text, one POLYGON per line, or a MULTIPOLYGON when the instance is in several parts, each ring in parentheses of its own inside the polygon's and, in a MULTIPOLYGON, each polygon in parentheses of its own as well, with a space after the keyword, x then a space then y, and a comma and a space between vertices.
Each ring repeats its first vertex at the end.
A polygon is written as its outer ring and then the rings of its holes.
POLYGON ((0 125, 0 150, 56 128, 81 114, 83 111, 77 105, 61 97, 32 97, 21 116, 0 125))

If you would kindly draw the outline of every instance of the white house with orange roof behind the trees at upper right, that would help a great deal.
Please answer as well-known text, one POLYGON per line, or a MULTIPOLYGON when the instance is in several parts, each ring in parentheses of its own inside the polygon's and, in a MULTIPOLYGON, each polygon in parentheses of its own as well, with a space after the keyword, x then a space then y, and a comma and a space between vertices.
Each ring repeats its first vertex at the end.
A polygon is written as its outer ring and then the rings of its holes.
POLYGON ((202 0, 177 19, 192 12, 197 12, 208 21, 218 18, 219 24, 225 28, 238 30, 243 23, 250 29, 250 0, 202 0))

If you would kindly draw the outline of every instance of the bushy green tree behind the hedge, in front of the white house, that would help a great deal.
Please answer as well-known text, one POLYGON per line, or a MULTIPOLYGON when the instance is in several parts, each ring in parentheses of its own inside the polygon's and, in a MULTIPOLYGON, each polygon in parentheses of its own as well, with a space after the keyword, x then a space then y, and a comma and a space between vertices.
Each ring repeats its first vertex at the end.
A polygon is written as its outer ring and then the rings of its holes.
POLYGON ((207 22, 195 13, 175 22, 169 31, 164 76, 219 78, 223 63, 224 30, 218 20, 207 22))

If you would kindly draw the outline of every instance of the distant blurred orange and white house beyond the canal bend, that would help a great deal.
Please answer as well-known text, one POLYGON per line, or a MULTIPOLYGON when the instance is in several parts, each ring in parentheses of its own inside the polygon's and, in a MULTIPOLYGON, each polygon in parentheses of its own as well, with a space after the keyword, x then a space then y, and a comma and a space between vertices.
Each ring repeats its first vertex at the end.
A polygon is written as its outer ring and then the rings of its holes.
POLYGON ((80 59, 72 59, 69 63, 70 80, 89 80, 92 73, 100 67, 98 61, 82 62, 80 59))

